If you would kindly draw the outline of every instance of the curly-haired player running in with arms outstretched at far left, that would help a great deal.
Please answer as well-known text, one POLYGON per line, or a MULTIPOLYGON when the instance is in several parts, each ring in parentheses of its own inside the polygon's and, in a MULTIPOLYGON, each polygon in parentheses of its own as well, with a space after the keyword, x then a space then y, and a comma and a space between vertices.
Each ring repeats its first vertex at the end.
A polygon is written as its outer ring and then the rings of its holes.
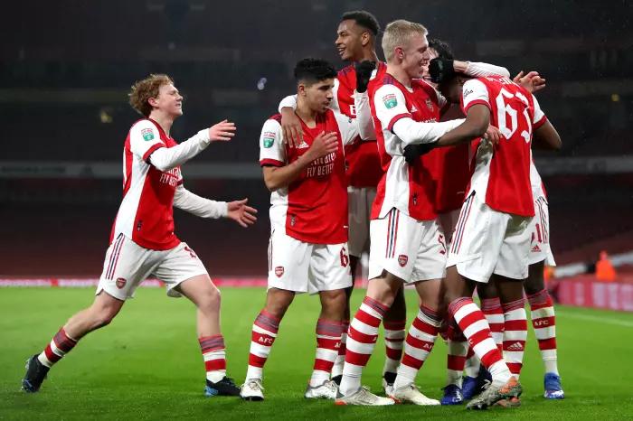
POLYGON ((206 369, 206 396, 236 396, 240 389, 226 377, 220 330, 220 292, 202 261, 174 233, 173 206, 202 218, 230 218, 242 227, 255 222, 255 210, 241 201, 210 201, 183 185, 180 166, 211 142, 229 141, 235 125, 226 120, 181 144, 169 136, 183 115, 183 97, 174 81, 152 74, 134 84, 129 102, 143 116, 129 130, 123 155, 123 201, 94 303, 76 313, 40 354, 27 362, 22 386, 36 392, 53 364, 86 334, 109 324, 148 276, 165 282, 167 295, 184 295, 197 307, 198 341, 206 369))

